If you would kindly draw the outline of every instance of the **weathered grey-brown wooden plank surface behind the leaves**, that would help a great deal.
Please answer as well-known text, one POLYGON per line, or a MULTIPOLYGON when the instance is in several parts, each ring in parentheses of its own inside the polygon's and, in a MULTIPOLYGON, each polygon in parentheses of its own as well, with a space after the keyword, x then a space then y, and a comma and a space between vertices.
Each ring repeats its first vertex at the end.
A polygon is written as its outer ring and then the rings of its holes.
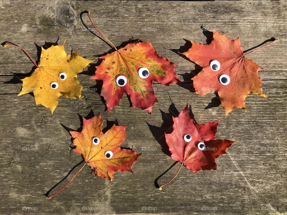
MULTIPOLYGON (((159 55, 178 65, 176 73, 181 80, 181 74, 187 73, 184 84, 169 87, 154 84, 159 102, 151 115, 130 108, 126 96, 107 115, 97 93, 100 84, 89 81, 95 66, 91 64, 78 79, 84 87, 96 85, 97 92, 83 91, 84 101, 60 98, 52 115, 47 108, 36 106, 33 96, 17 97, 22 84, 10 72, 23 78, 33 64, 21 50, 0 48, 0 214, 287 213, 286 1, 3 0, 0 7, 1 42, 24 47, 34 59, 38 58, 34 42, 39 46, 45 41, 54 43, 59 35, 59 44, 67 39, 67 52, 71 45, 74 50, 79 49, 81 56, 97 62, 96 56, 110 47, 86 29, 85 25, 92 27, 86 13, 81 20, 81 12, 90 10, 97 27, 114 44, 132 37, 151 42, 159 55), (269 100, 250 95, 246 99, 248 111, 234 110, 227 119, 216 99, 212 104, 215 107, 204 109, 214 95, 201 97, 190 92, 194 64, 168 50, 183 46, 183 39, 205 43, 201 24, 232 39, 240 36, 243 50, 273 36, 279 38, 279 42, 249 56, 263 67, 259 75, 269 100), (171 115, 167 113, 176 114, 187 103, 197 123, 222 119, 216 137, 236 143, 228 149, 228 154, 217 159, 217 171, 196 175, 182 168, 170 185, 158 191, 156 182, 167 182, 178 170, 179 163, 161 176, 174 161, 162 152, 161 140, 157 140, 171 126, 171 115), (77 113, 87 116, 91 110, 101 111, 103 119, 115 121, 116 118, 119 125, 128 125, 128 137, 121 146, 133 146, 138 153, 143 152, 133 165, 134 174, 115 173, 115 180, 109 182, 100 177, 94 179, 91 170, 85 167, 62 193, 51 200, 45 199, 44 194, 81 161, 79 155, 70 151, 70 136, 60 123, 77 129, 80 127, 77 113), (22 147, 37 150, 23 151, 22 147), (142 147, 154 150, 143 151, 142 147), (25 211, 23 207, 37 208, 37 211, 25 211), (143 210, 144 207, 154 210, 143 210)), ((75 167, 50 195, 79 168, 80 165, 75 167)))

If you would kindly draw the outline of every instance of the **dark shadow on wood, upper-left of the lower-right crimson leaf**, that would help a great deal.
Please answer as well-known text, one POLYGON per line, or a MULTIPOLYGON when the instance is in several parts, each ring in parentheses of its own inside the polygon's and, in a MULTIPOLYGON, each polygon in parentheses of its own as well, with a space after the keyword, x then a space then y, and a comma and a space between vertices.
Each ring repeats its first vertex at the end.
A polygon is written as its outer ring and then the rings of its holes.
MULTIPOLYGON (((161 109, 159 109, 161 112, 161 118, 163 123, 161 124, 160 127, 151 125, 148 122, 146 124, 149 126, 149 130, 152 132, 152 136, 156 139, 156 141, 161 145, 161 151, 165 153, 167 156, 171 156, 171 153, 169 151, 166 139, 165 139, 165 134, 166 133, 172 133, 173 129, 173 119, 172 117, 177 117, 179 115, 178 110, 175 107, 175 104, 172 102, 170 107, 169 107, 169 113, 165 113, 161 109)), ((191 111, 191 107, 189 106, 189 116, 191 119, 194 119, 194 115, 191 111)))

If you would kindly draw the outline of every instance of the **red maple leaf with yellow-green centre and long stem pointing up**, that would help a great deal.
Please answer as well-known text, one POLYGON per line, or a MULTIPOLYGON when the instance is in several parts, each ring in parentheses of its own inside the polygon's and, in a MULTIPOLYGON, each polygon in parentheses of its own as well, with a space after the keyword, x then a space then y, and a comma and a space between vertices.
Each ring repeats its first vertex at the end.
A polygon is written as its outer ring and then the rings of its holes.
MULTIPOLYGON (((92 20, 91 23, 95 27, 92 20)), ((129 95, 133 108, 138 107, 151 113, 153 105, 158 101, 152 82, 163 85, 181 82, 175 74, 174 63, 159 56, 150 43, 139 41, 129 43, 119 50, 109 41, 116 51, 100 57, 102 62, 91 77, 103 80, 100 95, 105 99, 108 113, 120 104, 124 93, 129 95)))

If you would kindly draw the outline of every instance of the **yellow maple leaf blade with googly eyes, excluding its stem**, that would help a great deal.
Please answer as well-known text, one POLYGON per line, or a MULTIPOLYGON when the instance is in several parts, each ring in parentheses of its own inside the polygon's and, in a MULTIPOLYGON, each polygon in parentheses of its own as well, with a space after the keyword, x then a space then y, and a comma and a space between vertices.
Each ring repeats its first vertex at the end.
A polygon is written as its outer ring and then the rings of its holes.
POLYGON ((80 99, 83 86, 77 80, 77 74, 93 62, 78 55, 78 50, 67 54, 64 44, 42 47, 38 68, 31 76, 22 79, 21 96, 33 92, 36 105, 44 105, 52 113, 58 105, 60 96, 80 99))

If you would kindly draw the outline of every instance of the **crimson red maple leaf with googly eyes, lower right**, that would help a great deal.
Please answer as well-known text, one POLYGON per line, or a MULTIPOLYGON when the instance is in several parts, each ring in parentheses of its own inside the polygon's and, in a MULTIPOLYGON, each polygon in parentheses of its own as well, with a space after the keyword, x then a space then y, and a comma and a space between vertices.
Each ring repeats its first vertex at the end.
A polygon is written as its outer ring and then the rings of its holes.
POLYGON ((200 170, 216 170, 216 158, 226 154, 225 150, 234 143, 215 138, 220 120, 198 125, 190 119, 188 113, 187 104, 177 117, 172 117, 174 122, 172 133, 165 134, 172 159, 181 162, 181 165, 176 175, 161 185, 160 190, 178 175, 182 165, 195 173, 200 170))

